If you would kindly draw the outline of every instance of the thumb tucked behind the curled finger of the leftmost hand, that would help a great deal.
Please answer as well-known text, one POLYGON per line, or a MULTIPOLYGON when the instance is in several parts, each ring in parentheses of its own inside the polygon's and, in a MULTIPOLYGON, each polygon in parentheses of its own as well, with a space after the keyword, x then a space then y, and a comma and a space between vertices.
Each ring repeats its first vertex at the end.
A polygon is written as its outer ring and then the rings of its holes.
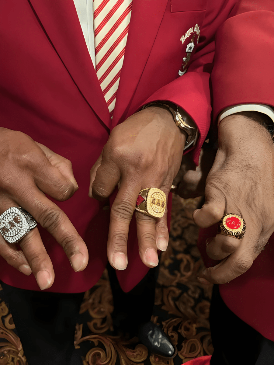
POLYGON ((51 151, 49 148, 42 145, 41 143, 38 142, 35 143, 45 153, 46 158, 49 160, 50 164, 55 168, 57 168, 61 172, 63 177, 67 178, 67 180, 69 180, 73 184, 76 191, 78 189, 78 184, 73 175, 72 163, 69 160, 67 160, 67 158, 51 151))

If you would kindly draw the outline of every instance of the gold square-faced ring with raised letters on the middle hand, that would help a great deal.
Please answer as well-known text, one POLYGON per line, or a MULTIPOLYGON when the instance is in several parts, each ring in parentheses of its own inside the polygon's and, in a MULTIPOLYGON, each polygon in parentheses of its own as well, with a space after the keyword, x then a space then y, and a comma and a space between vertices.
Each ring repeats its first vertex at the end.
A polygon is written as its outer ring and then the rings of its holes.
POLYGON ((154 218, 162 218, 166 210, 166 194, 157 188, 147 188, 140 191, 135 209, 154 218))

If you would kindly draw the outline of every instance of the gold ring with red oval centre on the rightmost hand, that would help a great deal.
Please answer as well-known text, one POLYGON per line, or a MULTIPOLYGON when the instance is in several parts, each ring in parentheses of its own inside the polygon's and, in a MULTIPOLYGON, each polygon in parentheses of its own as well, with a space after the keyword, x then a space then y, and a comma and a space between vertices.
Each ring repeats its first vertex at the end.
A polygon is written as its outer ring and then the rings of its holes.
POLYGON ((218 225, 218 233, 243 239, 246 234, 246 222, 238 214, 224 214, 218 225))

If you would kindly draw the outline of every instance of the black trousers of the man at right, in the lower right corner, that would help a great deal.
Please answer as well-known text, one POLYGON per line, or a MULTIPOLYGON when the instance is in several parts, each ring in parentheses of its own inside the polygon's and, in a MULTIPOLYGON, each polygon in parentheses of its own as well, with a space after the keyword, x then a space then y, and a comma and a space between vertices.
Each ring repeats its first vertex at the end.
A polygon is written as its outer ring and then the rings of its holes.
POLYGON ((211 365, 274 364, 274 342, 229 310, 220 296, 218 285, 213 287, 210 328, 214 347, 211 365))

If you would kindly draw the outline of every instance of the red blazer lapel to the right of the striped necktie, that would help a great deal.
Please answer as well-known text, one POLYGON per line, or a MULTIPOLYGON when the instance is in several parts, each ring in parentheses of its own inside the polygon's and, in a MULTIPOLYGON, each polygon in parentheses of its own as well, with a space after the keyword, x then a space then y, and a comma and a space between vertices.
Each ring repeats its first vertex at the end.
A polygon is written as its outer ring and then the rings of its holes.
POLYGON ((133 0, 127 45, 111 128, 123 120, 170 0, 133 0))

